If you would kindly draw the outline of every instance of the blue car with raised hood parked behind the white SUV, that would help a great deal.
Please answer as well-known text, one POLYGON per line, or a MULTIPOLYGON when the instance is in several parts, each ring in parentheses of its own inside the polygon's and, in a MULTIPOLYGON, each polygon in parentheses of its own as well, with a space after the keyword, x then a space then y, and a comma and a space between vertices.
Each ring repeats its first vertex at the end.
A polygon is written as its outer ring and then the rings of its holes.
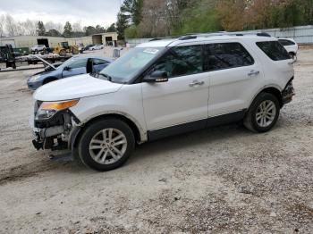
POLYGON ((100 56, 74 56, 63 64, 57 63, 57 67, 46 61, 46 70, 27 79, 27 85, 34 90, 57 79, 98 72, 112 61, 110 58, 100 56))

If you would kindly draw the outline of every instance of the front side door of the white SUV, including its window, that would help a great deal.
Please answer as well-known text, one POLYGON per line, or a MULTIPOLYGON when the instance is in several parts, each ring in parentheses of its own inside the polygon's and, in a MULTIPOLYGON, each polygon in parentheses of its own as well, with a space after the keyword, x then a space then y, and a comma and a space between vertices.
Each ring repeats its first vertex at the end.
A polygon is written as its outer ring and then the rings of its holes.
POLYGON ((205 127, 208 77, 203 72, 202 46, 175 46, 157 61, 151 71, 166 71, 169 80, 142 83, 148 130, 178 127, 194 121, 201 125, 197 126, 205 127))

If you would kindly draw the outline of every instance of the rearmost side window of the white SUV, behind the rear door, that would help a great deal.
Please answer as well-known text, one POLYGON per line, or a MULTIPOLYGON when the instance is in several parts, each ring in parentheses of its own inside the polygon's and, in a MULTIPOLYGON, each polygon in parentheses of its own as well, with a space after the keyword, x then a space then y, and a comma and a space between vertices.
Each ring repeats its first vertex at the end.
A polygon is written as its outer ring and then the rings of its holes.
POLYGON ((257 42, 257 46, 272 60, 287 60, 291 57, 278 41, 257 42))

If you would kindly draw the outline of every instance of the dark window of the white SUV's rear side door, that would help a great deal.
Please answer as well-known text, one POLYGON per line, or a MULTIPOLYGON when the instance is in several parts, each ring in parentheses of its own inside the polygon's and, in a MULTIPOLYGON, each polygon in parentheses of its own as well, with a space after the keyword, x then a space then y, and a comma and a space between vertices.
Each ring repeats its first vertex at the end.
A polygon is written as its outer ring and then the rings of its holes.
POLYGON ((207 44, 207 71, 250 66, 254 63, 249 52, 240 43, 207 44))

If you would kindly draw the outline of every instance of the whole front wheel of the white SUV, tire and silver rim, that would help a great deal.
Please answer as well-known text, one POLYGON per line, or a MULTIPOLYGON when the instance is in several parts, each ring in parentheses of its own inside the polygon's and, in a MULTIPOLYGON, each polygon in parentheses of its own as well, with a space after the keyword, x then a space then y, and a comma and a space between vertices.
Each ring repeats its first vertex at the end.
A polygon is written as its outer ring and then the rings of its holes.
POLYGON ((82 163, 97 171, 109 171, 122 166, 134 147, 135 138, 128 124, 105 119, 84 130, 78 151, 82 163))

